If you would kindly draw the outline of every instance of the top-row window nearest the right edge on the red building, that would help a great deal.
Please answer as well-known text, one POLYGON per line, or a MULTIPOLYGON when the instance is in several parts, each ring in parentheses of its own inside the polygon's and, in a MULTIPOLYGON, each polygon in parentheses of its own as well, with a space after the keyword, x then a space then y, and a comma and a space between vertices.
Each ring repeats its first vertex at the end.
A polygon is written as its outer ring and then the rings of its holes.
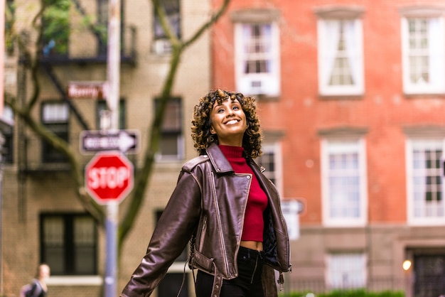
POLYGON ((445 92, 444 18, 416 16, 410 11, 402 17, 403 89, 407 94, 445 92))

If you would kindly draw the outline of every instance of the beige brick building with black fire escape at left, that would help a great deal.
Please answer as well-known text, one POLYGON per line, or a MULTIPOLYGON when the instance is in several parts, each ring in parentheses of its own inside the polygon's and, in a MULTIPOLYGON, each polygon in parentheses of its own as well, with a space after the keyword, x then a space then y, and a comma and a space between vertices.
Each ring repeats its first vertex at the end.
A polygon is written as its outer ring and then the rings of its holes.
MULTIPOLYGON (((53 3, 56 13, 36 18, 41 1, 7 1, 13 7, 16 33, 27 38, 26 44, 31 50, 33 44, 41 45, 38 51, 41 67, 33 76, 25 68, 27 60, 23 52, 11 45, 6 51, 5 89, 8 96, 25 104, 36 92, 33 78, 38 77, 41 85, 33 105, 33 117, 68 141, 80 166, 85 166, 94 152, 82 147, 82 134, 101 129, 100 114, 106 109, 102 87, 107 80, 109 1, 53 3), (68 21, 62 18, 64 13, 68 13, 68 21), (32 30, 33 21, 47 25, 41 43, 36 43, 38 35, 32 30), (50 26, 54 23, 57 26, 50 26), (94 26, 89 26, 91 24, 94 26), (85 84, 91 85, 91 89, 84 93, 68 92, 70 86, 75 89, 85 84)), ((163 1, 162 5, 172 23, 173 33, 183 40, 193 36, 211 13, 208 1, 173 0, 163 1)), ((171 46, 151 1, 123 0, 120 10, 119 129, 139 131, 139 149, 127 153, 137 175, 144 161, 156 102, 170 67, 171 46)), ((118 291, 144 255, 182 164, 196 156, 188 137, 191 114, 198 98, 209 88, 210 42, 209 34, 203 33, 183 53, 176 72, 154 174, 134 229, 122 247, 118 291)), ((18 296, 21 286, 31 281, 42 261, 51 268, 48 281, 51 296, 103 296, 106 235, 77 199, 67 158, 36 136, 20 117, 14 117, 10 108, 6 107, 5 111, 5 117, 14 118, 14 129, 6 135, 4 145, 2 296, 18 296)), ((119 205, 120 216, 127 207, 127 200, 124 200, 119 205)), ((183 277, 183 258, 184 255, 178 259, 180 264, 172 266, 166 282, 156 291, 158 296, 169 296, 171 290, 177 292, 183 277)), ((187 289, 184 292, 189 293, 187 289)))

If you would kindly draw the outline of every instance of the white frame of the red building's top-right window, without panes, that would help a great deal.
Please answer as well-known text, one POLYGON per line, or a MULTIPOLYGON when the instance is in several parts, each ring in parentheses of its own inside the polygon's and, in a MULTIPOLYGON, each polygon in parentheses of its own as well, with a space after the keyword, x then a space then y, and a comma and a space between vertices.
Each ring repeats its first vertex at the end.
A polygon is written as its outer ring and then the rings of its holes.
POLYGON ((443 16, 419 16, 412 13, 408 16, 402 16, 402 79, 403 91, 405 94, 443 94, 445 93, 445 30, 443 16), (413 83, 410 80, 409 56, 411 54, 422 54, 409 50, 409 19, 419 18, 429 21, 429 82, 413 83))

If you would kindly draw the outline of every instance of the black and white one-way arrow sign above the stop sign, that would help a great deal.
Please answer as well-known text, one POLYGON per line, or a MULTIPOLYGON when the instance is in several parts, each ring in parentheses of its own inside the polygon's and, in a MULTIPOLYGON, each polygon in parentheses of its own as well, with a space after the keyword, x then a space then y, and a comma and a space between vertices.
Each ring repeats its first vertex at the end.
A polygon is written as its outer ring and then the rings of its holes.
POLYGON ((134 153, 138 149, 139 131, 137 130, 86 130, 80 134, 80 151, 82 153, 97 153, 100 151, 134 153))

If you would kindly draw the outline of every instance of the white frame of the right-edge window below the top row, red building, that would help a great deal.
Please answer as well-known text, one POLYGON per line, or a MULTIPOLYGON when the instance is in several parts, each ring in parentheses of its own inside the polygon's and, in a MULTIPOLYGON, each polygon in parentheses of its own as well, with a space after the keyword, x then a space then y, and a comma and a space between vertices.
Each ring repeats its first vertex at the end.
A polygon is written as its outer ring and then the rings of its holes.
MULTIPOLYGON (((445 223, 445 202, 444 202, 444 176, 441 176, 441 204, 436 205, 436 207, 443 207, 441 212, 444 213, 442 216, 426 216, 422 215, 421 217, 417 217, 414 215, 414 208, 417 208, 418 205, 414 205, 414 191, 415 185, 414 185, 414 176, 417 175, 419 177, 426 177, 427 172, 425 168, 415 168, 413 166, 414 162, 414 149, 441 149, 442 151, 442 166, 440 168, 437 168, 436 171, 439 171, 439 174, 443 173, 443 159, 444 159, 444 148, 445 148, 445 140, 443 138, 425 138, 425 139, 407 139, 406 143, 406 168, 407 168, 407 221, 408 225, 415 225, 415 226, 436 226, 436 225, 444 225, 445 223)), ((434 170, 434 169, 433 169, 434 170)), ((434 172, 431 172, 434 173, 434 172)), ((437 173, 437 172, 436 172, 437 173)), ((425 185, 423 185, 425 186, 425 185)), ((419 185, 419 187, 422 187, 422 185, 419 185)), ((422 190, 422 189, 420 189, 422 190)), ((426 205, 424 203, 423 205, 420 205, 423 210, 427 210, 427 207, 434 207, 434 205, 426 205)))

